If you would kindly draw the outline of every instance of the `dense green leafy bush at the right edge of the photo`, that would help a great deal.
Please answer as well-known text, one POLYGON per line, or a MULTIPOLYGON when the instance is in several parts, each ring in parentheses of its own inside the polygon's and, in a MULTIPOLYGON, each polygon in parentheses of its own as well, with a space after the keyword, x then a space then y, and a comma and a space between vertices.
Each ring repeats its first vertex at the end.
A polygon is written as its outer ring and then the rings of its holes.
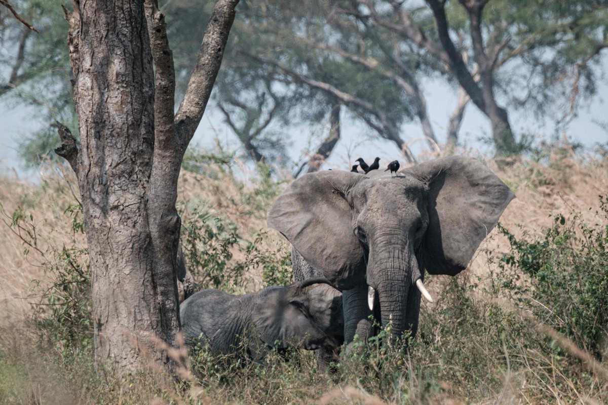
MULTIPOLYGON (((599 197, 596 217, 606 223, 608 202, 599 197)), ((553 226, 541 237, 524 233, 508 237, 511 251, 502 257, 505 274, 519 269, 526 281, 502 279, 523 308, 569 336, 601 359, 607 354, 608 338, 608 226, 582 222, 580 214, 554 217, 553 226)), ((519 280, 518 280, 519 279, 519 280)))

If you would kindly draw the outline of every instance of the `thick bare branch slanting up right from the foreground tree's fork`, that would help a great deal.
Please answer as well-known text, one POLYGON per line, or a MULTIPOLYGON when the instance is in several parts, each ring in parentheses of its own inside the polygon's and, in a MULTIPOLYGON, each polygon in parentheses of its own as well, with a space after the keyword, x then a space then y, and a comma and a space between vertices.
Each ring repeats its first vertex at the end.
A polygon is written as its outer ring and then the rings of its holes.
POLYGON ((205 112, 224 56, 238 2, 239 0, 218 0, 213 8, 184 100, 175 115, 175 123, 178 125, 179 136, 184 148, 192 140, 192 136, 201 122, 202 114, 205 112))

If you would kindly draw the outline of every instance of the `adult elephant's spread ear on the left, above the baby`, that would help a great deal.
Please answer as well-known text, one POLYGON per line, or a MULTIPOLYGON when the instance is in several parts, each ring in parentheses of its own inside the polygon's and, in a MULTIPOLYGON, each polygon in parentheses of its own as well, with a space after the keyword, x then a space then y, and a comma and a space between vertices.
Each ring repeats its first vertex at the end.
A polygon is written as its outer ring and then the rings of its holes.
POLYGON ((268 226, 282 233, 308 264, 340 288, 351 284, 365 266, 345 199, 365 179, 365 175, 337 170, 305 174, 288 186, 268 213, 268 226))

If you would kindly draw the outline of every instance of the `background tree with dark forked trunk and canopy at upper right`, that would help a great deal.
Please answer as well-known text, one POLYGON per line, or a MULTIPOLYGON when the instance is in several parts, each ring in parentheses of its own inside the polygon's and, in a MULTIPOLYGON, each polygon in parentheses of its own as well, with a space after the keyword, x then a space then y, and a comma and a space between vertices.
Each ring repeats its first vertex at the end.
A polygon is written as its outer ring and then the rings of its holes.
POLYGON ((438 62, 435 66, 439 72, 458 83, 461 92, 450 129, 452 140, 461 119, 460 106, 469 100, 488 117, 497 153, 511 154, 519 146, 507 106, 499 96, 512 107, 532 107, 543 114, 548 101, 555 101, 552 97, 563 97, 564 78, 573 77, 572 113, 581 78, 586 82, 587 94, 595 92, 592 65, 600 63, 601 51, 608 48, 606 2, 425 3, 427 7, 396 0, 349 0, 343 2, 339 12, 382 27, 403 43, 418 47, 438 62))

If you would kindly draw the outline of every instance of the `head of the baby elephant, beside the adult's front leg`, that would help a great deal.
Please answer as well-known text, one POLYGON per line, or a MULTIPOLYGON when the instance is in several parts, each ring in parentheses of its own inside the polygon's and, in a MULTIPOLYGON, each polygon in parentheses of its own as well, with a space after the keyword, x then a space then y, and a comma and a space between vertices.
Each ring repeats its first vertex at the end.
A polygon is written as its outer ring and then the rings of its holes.
POLYGON ((332 346, 334 328, 342 328, 339 290, 323 279, 269 287, 257 298, 252 321, 268 345, 296 345, 308 350, 332 346), (334 323, 335 322, 335 323, 334 323))

